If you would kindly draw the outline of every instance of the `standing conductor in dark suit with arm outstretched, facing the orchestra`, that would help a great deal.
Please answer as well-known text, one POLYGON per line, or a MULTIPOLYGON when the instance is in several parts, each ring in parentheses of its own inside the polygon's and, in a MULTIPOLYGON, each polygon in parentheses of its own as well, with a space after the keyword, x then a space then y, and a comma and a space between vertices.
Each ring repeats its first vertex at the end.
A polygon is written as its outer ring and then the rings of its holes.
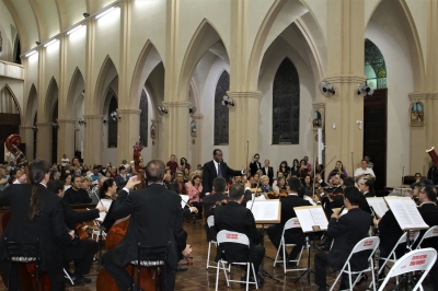
POLYGON ((212 190, 212 182, 217 177, 223 177, 228 181, 229 176, 241 176, 243 171, 234 171, 230 168, 222 159, 222 151, 216 149, 212 151, 212 161, 204 164, 203 167, 203 193, 206 196, 212 190))

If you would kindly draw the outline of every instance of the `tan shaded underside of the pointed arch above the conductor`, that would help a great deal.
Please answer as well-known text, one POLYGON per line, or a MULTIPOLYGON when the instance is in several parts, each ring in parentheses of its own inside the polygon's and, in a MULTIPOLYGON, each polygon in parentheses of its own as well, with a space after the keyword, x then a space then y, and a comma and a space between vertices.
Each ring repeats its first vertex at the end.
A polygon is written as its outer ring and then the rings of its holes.
MULTIPOLYGON (((204 19, 198 28, 194 33, 187 50, 184 55, 184 59, 181 67, 180 80, 178 80, 178 92, 188 96, 189 84, 193 75, 193 71, 196 65, 205 53, 216 43, 221 42, 221 37, 215 26, 207 20, 204 19)), ((222 42, 223 48, 228 54, 228 49, 222 42)))

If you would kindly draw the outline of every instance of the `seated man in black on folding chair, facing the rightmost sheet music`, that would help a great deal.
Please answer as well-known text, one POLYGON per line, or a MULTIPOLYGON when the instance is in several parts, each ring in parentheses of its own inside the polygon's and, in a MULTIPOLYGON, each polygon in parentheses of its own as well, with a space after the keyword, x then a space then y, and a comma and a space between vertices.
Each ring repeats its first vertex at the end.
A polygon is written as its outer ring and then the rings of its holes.
MULTIPOLYGON (((319 291, 326 290, 326 266, 339 270, 347 260, 353 247, 368 235, 370 228, 369 213, 362 211, 358 203, 360 191, 356 187, 344 189, 344 202, 348 212, 342 217, 333 213, 328 222, 327 235, 333 237, 334 244, 328 254, 318 253, 315 261, 315 283, 319 291)), ((367 253, 356 254, 351 259, 351 270, 358 270, 368 266, 367 253)), ((341 289, 348 289, 348 276, 343 275, 341 289)))

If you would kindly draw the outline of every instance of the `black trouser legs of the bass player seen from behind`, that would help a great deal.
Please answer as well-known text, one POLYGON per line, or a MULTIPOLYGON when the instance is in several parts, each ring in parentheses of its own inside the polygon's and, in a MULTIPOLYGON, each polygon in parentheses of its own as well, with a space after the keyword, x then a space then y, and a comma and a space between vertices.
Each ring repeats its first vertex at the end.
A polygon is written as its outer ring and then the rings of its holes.
MULTIPOLYGON (((102 266, 106 271, 113 277, 120 290, 128 290, 132 282, 130 280, 130 275, 125 269, 126 266, 118 266, 113 258, 113 249, 106 252, 101 258, 102 266)), ((164 291, 173 291, 175 288, 175 273, 176 269, 171 268, 166 265, 165 267, 165 288, 164 291)))

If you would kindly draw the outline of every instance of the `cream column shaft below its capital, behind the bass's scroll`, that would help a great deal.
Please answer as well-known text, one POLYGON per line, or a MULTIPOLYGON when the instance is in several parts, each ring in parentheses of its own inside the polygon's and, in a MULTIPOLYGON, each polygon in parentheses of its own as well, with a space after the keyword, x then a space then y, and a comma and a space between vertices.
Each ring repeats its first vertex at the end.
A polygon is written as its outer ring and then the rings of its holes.
POLYGON ((118 121, 117 162, 132 160, 132 146, 140 140, 140 109, 117 109, 118 121))

